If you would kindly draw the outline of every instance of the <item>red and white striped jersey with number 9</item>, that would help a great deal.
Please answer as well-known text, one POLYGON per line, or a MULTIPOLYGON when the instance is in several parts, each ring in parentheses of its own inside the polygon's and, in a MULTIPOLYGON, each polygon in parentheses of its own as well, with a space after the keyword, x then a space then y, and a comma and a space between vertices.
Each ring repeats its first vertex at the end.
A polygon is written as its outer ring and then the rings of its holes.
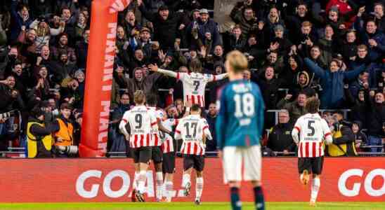
POLYGON ((126 111, 122 121, 129 123, 130 147, 140 148, 151 145, 151 130, 158 130, 157 119, 146 106, 134 106, 126 111))

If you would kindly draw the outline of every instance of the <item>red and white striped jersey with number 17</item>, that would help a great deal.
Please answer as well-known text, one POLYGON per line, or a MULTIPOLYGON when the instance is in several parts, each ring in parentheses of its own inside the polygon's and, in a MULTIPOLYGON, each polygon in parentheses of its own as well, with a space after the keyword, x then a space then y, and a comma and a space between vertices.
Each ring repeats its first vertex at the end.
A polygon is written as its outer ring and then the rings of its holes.
POLYGON ((198 115, 190 115, 179 120, 175 130, 175 139, 183 139, 181 153, 186 155, 204 155, 206 148, 203 134, 211 138, 209 124, 198 115))

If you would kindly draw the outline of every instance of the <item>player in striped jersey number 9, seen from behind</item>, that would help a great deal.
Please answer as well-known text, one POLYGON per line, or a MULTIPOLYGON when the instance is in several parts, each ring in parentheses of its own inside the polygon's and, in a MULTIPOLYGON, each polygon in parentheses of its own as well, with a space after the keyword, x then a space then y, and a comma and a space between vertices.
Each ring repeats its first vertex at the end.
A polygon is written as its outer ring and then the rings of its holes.
POLYGON ((144 202, 146 172, 151 158, 151 130, 157 130, 157 118, 145 106, 143 91, 137 90, 133 100, 136 106, 124 113, 119 129, 133 149, 133 162, 138 181, 138 189, 133 196, 139 202, 144 202))

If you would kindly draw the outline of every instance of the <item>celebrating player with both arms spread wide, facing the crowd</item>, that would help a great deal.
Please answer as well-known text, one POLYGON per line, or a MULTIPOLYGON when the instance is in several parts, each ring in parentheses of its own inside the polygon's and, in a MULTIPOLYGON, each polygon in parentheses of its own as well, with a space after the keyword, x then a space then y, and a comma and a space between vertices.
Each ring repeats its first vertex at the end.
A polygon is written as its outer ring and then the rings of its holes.
POLYGON ((159 69, 156 64, 151 64, 148 67, 151 71, 164 73, 167 76, 172 76, 182 81, 184 104, 190 102, 191 104, 199 104, 200 107, 204 107, 204 91, 206 90, 207 83, 226 78, 227 73, 219 75, 201 73, 202 66, 200 65, 202 64, 200 64, 199 60, 193 60, 192 63, 195 64, 196 67, 190 69, 192 71, 191 73, 159 69))

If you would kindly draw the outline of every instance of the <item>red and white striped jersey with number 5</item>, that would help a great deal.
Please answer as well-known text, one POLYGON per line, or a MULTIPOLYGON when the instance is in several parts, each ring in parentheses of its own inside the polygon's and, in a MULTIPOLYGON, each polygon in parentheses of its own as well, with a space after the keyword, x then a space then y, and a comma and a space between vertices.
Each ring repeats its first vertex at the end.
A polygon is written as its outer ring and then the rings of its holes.
MULTIPOLYGON (((292 133, 293 136, 299 134, 298 158, 316 158, 324 155, 323 140, 330 135, 330 129, 318 113, 301 116, 296 120, 292 133)), ((295 139, 298 138, 294 138, 294 141, 295 139)))

